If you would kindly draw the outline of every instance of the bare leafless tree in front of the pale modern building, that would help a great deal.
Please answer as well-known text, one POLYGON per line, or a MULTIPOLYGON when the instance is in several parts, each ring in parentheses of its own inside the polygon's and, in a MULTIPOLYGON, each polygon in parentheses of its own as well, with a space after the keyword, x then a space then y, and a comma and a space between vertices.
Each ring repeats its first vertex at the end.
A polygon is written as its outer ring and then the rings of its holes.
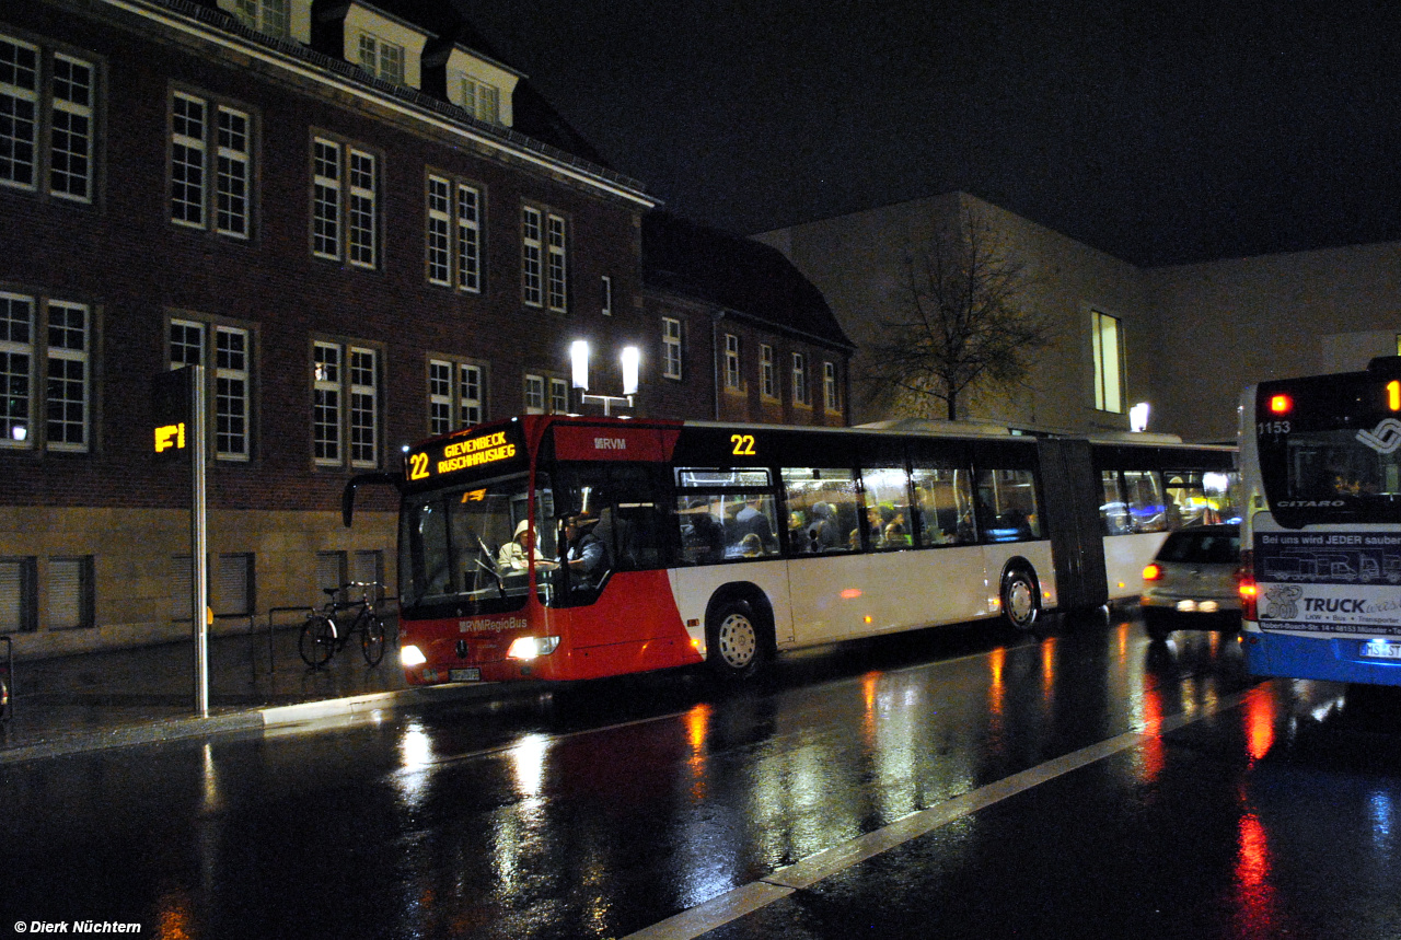
POLYGON ((1010 391, 1054 338, 1026 266, 975 212, 958 212, 906 256, 899 314, 881 321, 867 378, 891 413, 955 420, 962 396, 1010 391), (943 402, 943 408, 937 408, 943 402))

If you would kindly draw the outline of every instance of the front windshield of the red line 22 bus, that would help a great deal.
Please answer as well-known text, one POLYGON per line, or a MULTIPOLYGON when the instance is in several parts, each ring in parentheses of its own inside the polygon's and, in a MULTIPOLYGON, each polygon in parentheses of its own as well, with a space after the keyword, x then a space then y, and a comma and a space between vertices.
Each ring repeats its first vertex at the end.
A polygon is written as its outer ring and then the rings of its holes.
MULTIPOLYGON (((548 486, 548 485, 546 485, 548 486)), ((517 611, 530 590, 527 552, 553 556, 553 530, 531 537, 528 478, 516 474, 410 495, 399 513, 399 604, 415 616, 517 611), (534 545, 527 549, 527 542, 534 545)), ((544 507, 537 520, 548 520, 544 507)), ((537 521, 539 530, 539 521, 537 521)))

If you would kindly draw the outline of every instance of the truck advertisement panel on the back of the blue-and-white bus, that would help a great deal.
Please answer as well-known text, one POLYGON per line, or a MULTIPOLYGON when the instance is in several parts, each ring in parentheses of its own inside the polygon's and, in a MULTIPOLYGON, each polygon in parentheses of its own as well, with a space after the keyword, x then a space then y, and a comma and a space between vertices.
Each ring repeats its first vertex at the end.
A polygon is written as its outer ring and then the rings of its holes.
POLYGON ((1265 630, 1401 636, 1401 535, 1255 532, 1265 630))

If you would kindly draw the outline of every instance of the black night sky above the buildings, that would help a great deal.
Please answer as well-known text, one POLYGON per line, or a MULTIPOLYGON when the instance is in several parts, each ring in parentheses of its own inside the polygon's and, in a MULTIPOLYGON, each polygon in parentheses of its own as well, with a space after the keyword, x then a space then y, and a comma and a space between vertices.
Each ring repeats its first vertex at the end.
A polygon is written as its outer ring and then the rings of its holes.
POLYGON ((1139 265, 1401 238, 1395 3, 451 3, 741 234, 962 189, 1139 265))

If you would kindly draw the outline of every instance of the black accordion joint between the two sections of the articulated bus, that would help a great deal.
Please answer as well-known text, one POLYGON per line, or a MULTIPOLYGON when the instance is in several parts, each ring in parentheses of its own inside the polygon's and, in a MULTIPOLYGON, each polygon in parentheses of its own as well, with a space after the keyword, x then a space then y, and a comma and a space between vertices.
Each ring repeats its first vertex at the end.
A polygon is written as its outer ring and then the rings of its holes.
POLYGON ((1110 594, 1090 441, 1044 437, 1037 451, 1061 607, 1101 607, 1110 594))

